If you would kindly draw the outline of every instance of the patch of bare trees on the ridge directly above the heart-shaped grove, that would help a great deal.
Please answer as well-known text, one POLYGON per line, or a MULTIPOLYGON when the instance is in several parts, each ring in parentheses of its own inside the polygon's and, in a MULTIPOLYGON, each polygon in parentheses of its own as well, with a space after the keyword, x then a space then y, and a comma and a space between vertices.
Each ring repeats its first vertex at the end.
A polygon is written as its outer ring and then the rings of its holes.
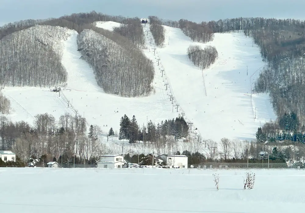
POLYGON ((207 43, 212 41, 214 38, 213 30, 211 30, 204 22, 198 24, 186 19, 180 19, 179 26, 182 32, 193 41, 207 43))

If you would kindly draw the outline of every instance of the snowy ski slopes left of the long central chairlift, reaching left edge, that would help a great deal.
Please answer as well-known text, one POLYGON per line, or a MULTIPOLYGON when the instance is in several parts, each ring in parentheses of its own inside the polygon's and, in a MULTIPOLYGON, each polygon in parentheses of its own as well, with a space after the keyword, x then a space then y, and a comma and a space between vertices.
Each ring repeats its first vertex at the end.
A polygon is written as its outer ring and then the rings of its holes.
POLYGON ((68 80, 60 97, 59 93, 50 92, 49 88, 5 87, 2 92, 12 103, 12 114, 8 117, 13 121, 25 120, 33 124, 37 113, 50 113, 57 119, 65 112, 79 113, 89 124, 100 126, 107 133, 110 127, 119 131, 120 118, 124 114, 129 117, 135 115, 140 126, 143 123, 146 125, 147 119, 160 122, 178 116, 167 101, 167 91, 159 69, 156 68, 153 82, 156 92, 149 97, 125 98, 106 94, 97 85, 92 68, 77 51, 77 32, 69 30, 68 34, 69 37, 61 41, 62 64, 68 72, 68 80))

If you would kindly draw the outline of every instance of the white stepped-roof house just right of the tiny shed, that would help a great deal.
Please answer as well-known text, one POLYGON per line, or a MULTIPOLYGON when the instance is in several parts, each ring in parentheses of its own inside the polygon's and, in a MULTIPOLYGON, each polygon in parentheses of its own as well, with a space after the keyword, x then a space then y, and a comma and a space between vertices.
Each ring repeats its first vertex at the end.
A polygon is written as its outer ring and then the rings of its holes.
POLYGON ((125 164, 124 155, 102 155, 97 163, 98 168, 122 168, 125 164))

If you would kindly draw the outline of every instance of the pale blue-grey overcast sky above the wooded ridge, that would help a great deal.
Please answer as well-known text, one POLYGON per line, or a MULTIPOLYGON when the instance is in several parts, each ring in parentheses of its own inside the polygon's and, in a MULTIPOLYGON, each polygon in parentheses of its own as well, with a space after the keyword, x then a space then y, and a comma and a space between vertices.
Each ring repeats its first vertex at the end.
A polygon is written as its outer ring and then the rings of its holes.
POLYGON ((195 22, 236 17, 305 19, 305 0, 0 0, 0 25, 74 12, 195 22))

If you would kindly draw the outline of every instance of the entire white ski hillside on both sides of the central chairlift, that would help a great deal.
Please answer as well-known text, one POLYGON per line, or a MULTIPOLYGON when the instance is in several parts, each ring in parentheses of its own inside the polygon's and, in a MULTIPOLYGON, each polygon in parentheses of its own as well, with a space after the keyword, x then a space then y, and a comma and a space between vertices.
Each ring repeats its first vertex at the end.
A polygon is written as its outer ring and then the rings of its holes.
MULTIPOLYGON (((96 23, 96 26, 107 30, 119 25, 115 22, 96 23)), ((77 33, 70 30, 67 33, 70 37, 65 37, 60 43, 62 63, 68 72, 67 85, 61 97, 50 92, 49 88, 5 87, 2 92, 13 108, 8 117, 13 121, 25 120, 33 124, 37 113, 50 113, 56 119, 65 112, 78 113, 87 119, 88 124, 98 125, 107 133, 110 127, 119 131, 120 118, 124 114, 130 118, 135 115, 142 127, 147 119, 157 123, 185 113, 203 139, 215 141, 223 137, 251 140, 255 138, 260 122, 263 125, 265 121, 276 118, 267 94, 253 94, 251 101, 250 84, 259 73, 257 69, 264 63, 259 49, 255 45, 252 47, 250 38, 237 32, 215 33, 210 44, 217 48, 219 58, 210 69, 201 71, 189 61, 186 49, 190 44, 206 44, 192 42, 180 29, 164 27, 164 47, 156 47, 155 55, 153 40, 150 45, 151 33, 145 36, 147 48, 143 51, 156 67, 153 81, 155 93, 150 96, 124 98, 104 93, 97 85, 92 68, 80 59, 77 33), (160 59, 159 65, 157 59, 160 59), (169 83, 167 90, 165 83, 169 83), (170 95, 174 96, 173 105, 170 95), (178 112, 176 104, 179 104, 178 112)), ((149 25, 143 30, 149 30, 149 25)))

